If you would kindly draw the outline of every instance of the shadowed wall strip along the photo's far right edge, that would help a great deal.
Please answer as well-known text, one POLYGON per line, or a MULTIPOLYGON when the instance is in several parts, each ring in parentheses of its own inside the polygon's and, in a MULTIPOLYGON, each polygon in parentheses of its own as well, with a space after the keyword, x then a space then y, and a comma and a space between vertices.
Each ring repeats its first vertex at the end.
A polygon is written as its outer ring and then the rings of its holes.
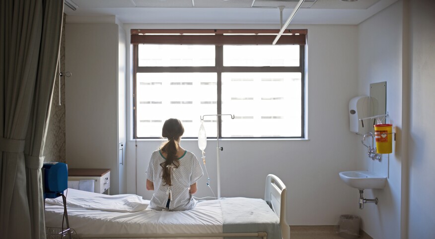
POLYGON ((435 237, 435 3, 410 0, 409 235, 435 237))

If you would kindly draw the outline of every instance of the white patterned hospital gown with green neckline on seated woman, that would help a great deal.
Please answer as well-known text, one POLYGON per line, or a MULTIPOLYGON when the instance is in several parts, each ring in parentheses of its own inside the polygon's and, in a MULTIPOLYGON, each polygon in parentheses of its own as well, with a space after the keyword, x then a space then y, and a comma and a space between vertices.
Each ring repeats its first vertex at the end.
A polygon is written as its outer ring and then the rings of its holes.
MULTIPOLYGON (((149 160, 146 178, 154 184, 154 193, 152 194, 149 207, 155 210, 166 209, 166 203, 169 196, 169 185, 165 185, 162 179, 163 169, 160 163, 163 163, 165 158, 160 150, 152 153, 149 160)), ((172 168, 171 172, 171 201, 169 203, 169 211, 183 211, 195 207, 197 201, 189 193, 190 185, 200 179, 204 173, 196 156, 185 151, 184 155, 178 159, 180 165, 178 168, 172 168)))

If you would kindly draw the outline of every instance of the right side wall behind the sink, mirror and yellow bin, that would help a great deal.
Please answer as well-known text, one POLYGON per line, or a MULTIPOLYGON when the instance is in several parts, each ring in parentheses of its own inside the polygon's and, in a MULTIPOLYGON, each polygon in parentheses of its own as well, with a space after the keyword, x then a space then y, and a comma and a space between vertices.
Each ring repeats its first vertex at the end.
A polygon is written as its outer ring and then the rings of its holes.
MULTIPOLYGON (((365 204, 355 214, 362 217, 363 230, 374 239, 400 238, 402 167, 402 1, 398 1, 358 26, 358 92, 369 95, 370 83, 387 82, 388 123, 398 132, 393 153, 372 161, 358 143, 358 168, 387 176, 384 189, 366 189, 364 198, 379 199, 378 205, 365 204)), ((361 140, 361 137, 358 137, 361 140)))

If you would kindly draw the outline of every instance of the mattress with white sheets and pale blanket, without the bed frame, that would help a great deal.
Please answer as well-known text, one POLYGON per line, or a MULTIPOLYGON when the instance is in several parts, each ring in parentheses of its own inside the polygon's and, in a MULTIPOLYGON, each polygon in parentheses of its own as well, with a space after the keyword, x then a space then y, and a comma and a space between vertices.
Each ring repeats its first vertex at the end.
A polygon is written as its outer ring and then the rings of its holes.
MULTIPOLYGON (((110 196, 71 188, 67 194, 70 228, 79 235, 245 233, 268 230, 268 239, 281 238, 279 218, 262 199, 206 200, 198 202, 192 210, 176 212, 152 210, 145 207, 148 204, 148 200, 134 194, 110 196), (108 205, 107 208, 103 204, 108 205), (121 204, 127 204, 127 209, 113 210, 121 204), (263 230, 260 230, 261 227, 263 230)), ((61 228, 63 212, 62 198, 46 199, 46 227, 61 228)))

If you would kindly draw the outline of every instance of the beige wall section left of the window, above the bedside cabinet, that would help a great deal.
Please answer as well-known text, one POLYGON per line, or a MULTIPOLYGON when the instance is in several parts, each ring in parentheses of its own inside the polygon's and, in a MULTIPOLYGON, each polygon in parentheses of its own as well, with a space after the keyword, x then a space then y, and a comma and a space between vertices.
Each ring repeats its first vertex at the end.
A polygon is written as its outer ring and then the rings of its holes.
POLYGON ((118 142, 125 140, 126 128, 125 107, 118 108, 118 96, 125 99, 125 60, 118 59, 119 54, 125 59, 118 51, 123 34, 114 16, 67 16, 65 67, 72 76, 65 80, 66 163, 69 168, 111 169, 112 194, 118 194, 122 179, 118 142))

